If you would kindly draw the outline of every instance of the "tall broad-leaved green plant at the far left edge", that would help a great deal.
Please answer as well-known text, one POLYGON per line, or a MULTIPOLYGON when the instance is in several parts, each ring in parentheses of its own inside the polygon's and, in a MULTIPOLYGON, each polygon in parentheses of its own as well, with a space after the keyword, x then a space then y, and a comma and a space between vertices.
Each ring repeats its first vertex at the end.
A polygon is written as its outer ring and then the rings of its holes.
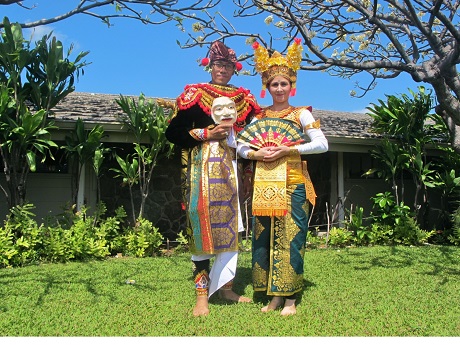
POLYGON ((0 155, 7 186, 0 186, 8 206, 24 205, 27 176, 36 160, 54 159, 50 139, 55 128, 51 109, 74 90, 75 75, 85 66, 64 54, 62 43, 51 34, 31 46, 18 24, 3 20, 0 40, 0 155))

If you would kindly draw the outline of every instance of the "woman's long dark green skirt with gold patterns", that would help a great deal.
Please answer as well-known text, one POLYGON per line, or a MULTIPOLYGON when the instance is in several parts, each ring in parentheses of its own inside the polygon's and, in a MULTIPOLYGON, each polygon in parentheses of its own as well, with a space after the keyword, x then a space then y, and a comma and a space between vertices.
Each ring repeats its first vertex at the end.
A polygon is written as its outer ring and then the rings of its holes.
POLYGON ((290 296, 302 290, 308 206, 305 185, 288 185, 286 216, 254 217, 254 291, 265 291, 272 296, 290 296))

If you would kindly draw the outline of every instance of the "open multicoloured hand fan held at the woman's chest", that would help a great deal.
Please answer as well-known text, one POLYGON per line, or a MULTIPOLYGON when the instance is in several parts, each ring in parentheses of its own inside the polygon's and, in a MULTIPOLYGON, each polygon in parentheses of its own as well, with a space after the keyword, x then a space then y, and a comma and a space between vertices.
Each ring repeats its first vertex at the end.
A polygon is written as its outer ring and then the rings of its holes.
POLYGON ((304 133, 295 124, 283 119, 260 119, 238 133, 237 141, 254 149, 267 146, 291 146, 305 141, 304 133))

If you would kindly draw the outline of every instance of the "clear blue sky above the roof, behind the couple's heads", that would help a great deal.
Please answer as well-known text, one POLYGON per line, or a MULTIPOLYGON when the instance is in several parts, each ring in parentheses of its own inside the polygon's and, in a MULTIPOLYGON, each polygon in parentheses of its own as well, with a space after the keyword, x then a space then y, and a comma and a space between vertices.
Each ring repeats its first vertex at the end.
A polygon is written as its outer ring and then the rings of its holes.
MULTIPOLYGON (((7 16, 11 22, 27 22, 62 14, 75 7, 78 0, 24 0, 24 5, 33 6, 25 10, 17 5, 1 6, 2 20, 7 16)), ((84 69, 76 83, 76 91, 122 94, 138 96, 141 93, 151 97, 177 97, 186 84, 210 80, 198 61, 206 56, 206 48, 180 49, 176 40, 185 42, 186 35, 172 24, 159 26, 144 25, 140 22, 119 19, 114 26, 107 27, 99 19, 77 15, 47 27, 38 27, 34 41, 43 34, 53 31, 65 49, 71 44, 74 51, 89 51, 85 60, 91 64, 84 69)), ((251 23, 254 25, 254 22, 251 23)), ((264 23, 254 30, 267 31, 264 23)), ((25 30, 29 38, 31 30, 25 30)), ((268 37, 268 36, 267 36, 268 37)), ((225 43, 237 55, 251 52, 243 38, 234 38, 225 43)), ((280 47, 281 48, 281 47, 280 47)), ((250 66, 243 63, 243 68, 250 66)), ((364 78, 364 75, 363 77, 364 78)), ((417 85, 409 76, 399 76, 392 80, 381 80, 376 89, 364 98, 350 96, 356 79, 344 80, 329 76, 325 72, 299 71, 297 95, 291 97, 293 105, 311 105, 314 109, 347 112, 364 112, 371 103, 385 100, 387 94, 408 94, 408 88, 416 90, 417 85)), ((270 96, 259 97, 261 81, 259 76, 234 76, 232 84, 251 90, 262 105, 270 104, 270 96)))

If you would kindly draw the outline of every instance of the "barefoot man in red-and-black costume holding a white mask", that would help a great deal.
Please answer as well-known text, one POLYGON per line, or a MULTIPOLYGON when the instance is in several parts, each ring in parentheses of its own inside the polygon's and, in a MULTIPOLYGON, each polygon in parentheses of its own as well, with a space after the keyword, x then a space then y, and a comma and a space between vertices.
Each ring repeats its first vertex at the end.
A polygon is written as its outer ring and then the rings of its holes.
POLYGON ((183 197, 196 289, 195 316, 209 314, 208 299, 217 290, 224 299, 251 302, 232 290, 238 232, 243 230, 238 195, 240 175, 233 168, 234 137, 260 111, 249 90, 229 84, 242 67, 233 49, 216 41, 201 64, 211 73, 211 81, 185 86, 166 130, 166 138, 182 148, 183 197), (214 100, 225 100, 221 97, 231 100, 234 118, 216 123, 215 119, 223 120, 223 112, 229 106, 217 101, 216 113, 212 114, 214 100), (212 257, 215 260, 210 270, 212 257))

